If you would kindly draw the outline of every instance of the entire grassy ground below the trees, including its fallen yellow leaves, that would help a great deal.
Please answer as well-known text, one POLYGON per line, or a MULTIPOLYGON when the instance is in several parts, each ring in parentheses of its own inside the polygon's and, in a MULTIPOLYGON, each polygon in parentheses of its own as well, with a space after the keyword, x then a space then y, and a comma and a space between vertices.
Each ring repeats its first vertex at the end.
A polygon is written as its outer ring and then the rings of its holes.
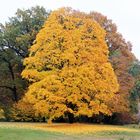
POLYGON ((0 140, 140 140, 139 126, 1 123, 0 140))

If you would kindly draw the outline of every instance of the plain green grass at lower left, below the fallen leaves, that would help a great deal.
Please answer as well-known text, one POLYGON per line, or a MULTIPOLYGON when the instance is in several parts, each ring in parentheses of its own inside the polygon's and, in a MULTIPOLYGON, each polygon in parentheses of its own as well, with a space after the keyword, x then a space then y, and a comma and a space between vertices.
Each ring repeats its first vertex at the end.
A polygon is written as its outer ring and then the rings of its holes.
POLYGON ((23 128, 0 128, 0 140, 56 140, 63 135, 23 128))

